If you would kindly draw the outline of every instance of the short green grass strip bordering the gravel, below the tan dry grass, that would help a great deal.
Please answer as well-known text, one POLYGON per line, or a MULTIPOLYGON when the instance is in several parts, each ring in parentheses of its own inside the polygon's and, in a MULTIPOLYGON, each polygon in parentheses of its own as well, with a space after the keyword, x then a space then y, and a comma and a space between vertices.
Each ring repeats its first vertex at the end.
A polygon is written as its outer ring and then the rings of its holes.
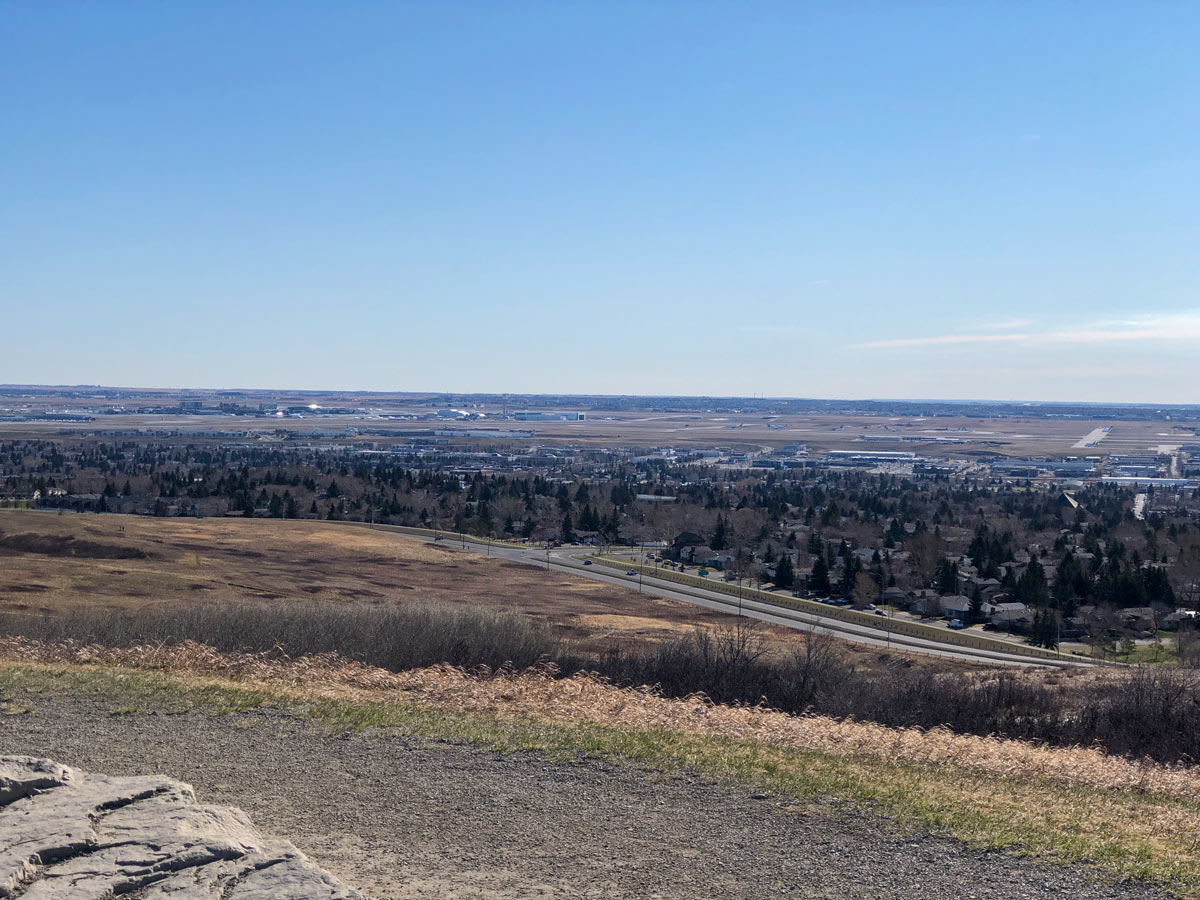
POLYGON ((110 707, 228 714, 271 708, 331 732, 374 727, 496 752, 532 752, 694 772, 794 797, 812 809, 858 805, 901 826, 930 829, 970 846, 1087 863, 1110 876, 1153 881, 1200 898, 1200 854, 1181 838, 1200 823, 1200 804, 1128 791, 990 776, 754 740, 587 722, 462 713, 402 702, 301 700, 286 691, 214 685, 119 668, 0 666, 0 691, 35 708, 41 694, 94 696, 110 707))

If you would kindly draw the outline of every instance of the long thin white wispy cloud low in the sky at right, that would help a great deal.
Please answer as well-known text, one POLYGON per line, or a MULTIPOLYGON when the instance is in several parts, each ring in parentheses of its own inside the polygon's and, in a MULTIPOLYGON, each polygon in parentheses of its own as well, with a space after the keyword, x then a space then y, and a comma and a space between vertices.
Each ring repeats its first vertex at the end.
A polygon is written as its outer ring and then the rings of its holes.
MULTIPOLYGON (((1030 323, 1024 323, 1030 324, 1030 323)), ((995 330, 996 326, 990 325, 995 330)), ((1200 342, 1200 311, 1142 316, 1124 320, 1081 323, 1078 326, 1042 331, 970 332, 923 335, 856 344, 866 349, 906 347, 953 347, 971 344, 1018 344, 1026 347, 1087 346, 1135 342, 1200 342)))

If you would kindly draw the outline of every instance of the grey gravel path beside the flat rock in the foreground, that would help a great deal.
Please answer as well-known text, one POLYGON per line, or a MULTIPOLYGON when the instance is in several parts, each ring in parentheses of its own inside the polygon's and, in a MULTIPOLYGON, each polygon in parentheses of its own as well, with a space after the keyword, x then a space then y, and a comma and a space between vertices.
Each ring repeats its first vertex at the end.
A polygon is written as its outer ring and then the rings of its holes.
POLYGON ((1166 896, 688 775, 391 730, 329 736, 272 712, 114 715, 46 695, 31 706, 0 718, 0 752, 187 781, 378 900, 1166 896))

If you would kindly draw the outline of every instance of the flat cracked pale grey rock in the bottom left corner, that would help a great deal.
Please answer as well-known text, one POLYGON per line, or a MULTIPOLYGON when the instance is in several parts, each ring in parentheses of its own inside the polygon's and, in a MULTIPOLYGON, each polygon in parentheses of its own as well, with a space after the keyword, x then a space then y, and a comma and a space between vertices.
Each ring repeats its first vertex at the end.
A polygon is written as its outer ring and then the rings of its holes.
POLYGON ((0 756, 0 898, 364 900, 239 809, 157 775, 0 756))

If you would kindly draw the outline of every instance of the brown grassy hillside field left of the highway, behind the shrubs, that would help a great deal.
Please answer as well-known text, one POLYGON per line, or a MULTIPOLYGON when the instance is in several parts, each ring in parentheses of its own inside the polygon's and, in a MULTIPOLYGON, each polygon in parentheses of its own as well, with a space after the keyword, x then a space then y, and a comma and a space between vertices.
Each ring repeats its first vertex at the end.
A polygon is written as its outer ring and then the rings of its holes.
MULTIPOLYGON (((582 652, 632 648, 731 619, 559 571, 325 522, 0 510, 0 610, 299 600, 508 610, 545 623, 582 652)), ((782 628, 769 634, 796 640, 782 628)))

